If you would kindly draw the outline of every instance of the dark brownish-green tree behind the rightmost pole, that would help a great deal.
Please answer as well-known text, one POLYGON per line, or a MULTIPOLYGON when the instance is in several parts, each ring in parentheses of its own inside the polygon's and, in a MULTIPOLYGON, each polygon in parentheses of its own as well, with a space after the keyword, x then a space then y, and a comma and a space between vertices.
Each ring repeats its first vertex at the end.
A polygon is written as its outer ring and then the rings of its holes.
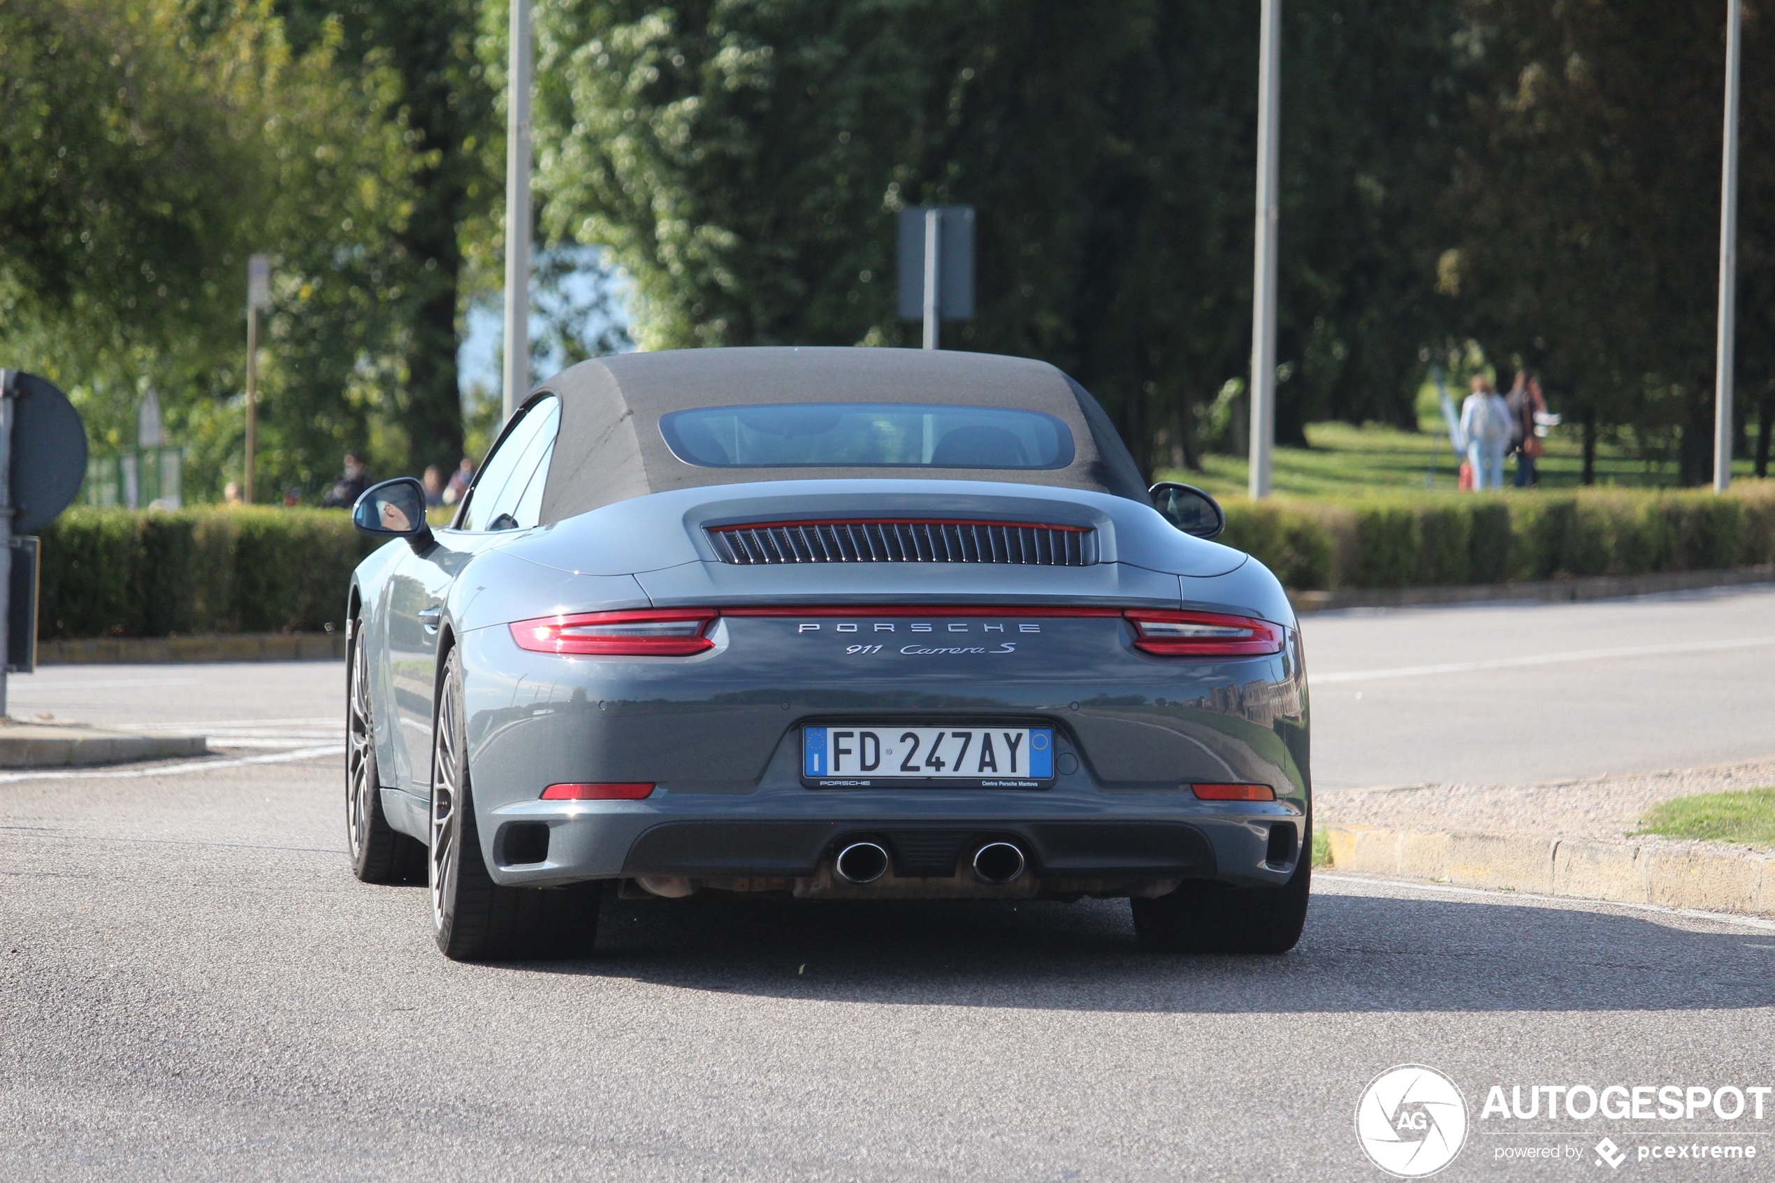
MULTIPOLYGON (((1447 193, 1441 287, 1493 353, 1544 369, 1585 424, 1713 468, 1724 16, 1713 0, 1466 0, 1479 76, 1447 193)), ((1745 60, 1775 41, 1752 5, 1745 60)), ((1771 316, 1775 92, 1747 71, 1743 323, 1771 316)), ((1741 360, 1775 378, 1766 333, 1741 360)), ((1752 387, 1754 388, 1754 387, 1752 387)), ((1766 415, 1764 415, 1766 419, 1766 415)), ((1592 477, 1587 463, 1585 479, 1592 477)))

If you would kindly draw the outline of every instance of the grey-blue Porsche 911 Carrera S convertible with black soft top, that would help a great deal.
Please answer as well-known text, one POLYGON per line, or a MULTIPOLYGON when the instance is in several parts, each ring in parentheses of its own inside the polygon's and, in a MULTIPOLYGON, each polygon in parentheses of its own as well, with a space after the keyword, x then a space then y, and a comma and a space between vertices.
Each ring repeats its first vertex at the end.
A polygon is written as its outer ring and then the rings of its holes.
POLYGON ((1283 952, 1312 867, 1289 599, 1058 369, 632 353, 543 383, 447 529, 350 591, 348 834, 458 960, 584 954, 607 890, 1127 897, 1283 952))

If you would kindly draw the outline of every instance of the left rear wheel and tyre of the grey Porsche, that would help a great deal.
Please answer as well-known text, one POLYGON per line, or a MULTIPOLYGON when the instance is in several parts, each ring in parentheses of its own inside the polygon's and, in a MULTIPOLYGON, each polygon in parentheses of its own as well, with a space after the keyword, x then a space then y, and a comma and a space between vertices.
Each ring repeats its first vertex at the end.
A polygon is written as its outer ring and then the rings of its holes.
POLYGON ((444 662, 431 741, 431 842, 426 883, 431 935, 453 961, 586 956, 598 938, 602 883, 504 887, 481 855, 474 816, 462 658, 444 662))

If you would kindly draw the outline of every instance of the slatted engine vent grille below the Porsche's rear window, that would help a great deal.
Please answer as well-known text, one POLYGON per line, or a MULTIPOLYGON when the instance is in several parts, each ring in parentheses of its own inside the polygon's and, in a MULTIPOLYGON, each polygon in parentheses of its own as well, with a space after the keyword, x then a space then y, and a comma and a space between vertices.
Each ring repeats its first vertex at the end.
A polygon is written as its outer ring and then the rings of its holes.
POLYGON ((1006 521, 769 521, 705 527, 722 562, 1003 562, 1088 568, 1097 532, 1006 521))

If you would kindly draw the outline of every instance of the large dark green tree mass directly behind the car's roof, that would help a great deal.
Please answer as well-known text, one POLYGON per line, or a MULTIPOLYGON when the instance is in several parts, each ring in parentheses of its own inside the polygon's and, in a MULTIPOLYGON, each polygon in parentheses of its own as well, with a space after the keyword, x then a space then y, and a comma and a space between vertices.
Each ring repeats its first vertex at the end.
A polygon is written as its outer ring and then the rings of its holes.
MULTIPOLYGON (((1308 410, 1408 420, 1434 314, 1429 243, 1383 231, 1434 192, 1420 158, 1454 25, 1404 0, 1345 11, 1290 32, 1296 438, 1308 410)), ((1164 440, 1193 459, 1195 408, 1246 369, 1246 9, 570 0, 538 46, 545 227, 609 245, 646 346, 903 344, 895 215, 967 202, 978 314, 950 341, 1069 369, 1143 466, 1164 440)))

